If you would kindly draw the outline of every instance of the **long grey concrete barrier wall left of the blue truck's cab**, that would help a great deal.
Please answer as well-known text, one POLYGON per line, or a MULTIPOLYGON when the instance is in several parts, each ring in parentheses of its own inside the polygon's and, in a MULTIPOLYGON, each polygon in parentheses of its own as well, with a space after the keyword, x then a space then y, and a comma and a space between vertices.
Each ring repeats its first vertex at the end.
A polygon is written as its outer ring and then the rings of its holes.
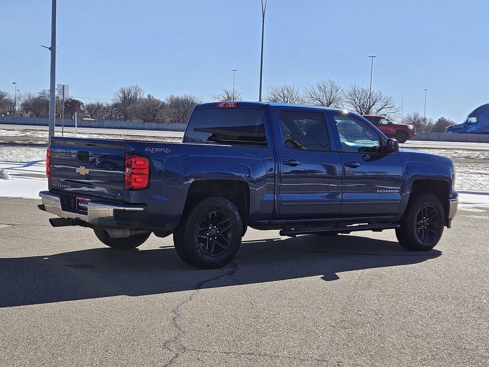
MULTIPOLYGON (((56 119, 56 126, 61 126, 62 119, 56 119)), ((48 126, 48 118, 0 116, 0 124, 48 126)), ((75 127, 74 119, 65 118, 65 126, 75 127)), ((104 129, 131 129, 157 131, 184 131, 187 124, 169 124, 166 122, 136 122, 111 120, 78 120, 78 127, 104 129)))

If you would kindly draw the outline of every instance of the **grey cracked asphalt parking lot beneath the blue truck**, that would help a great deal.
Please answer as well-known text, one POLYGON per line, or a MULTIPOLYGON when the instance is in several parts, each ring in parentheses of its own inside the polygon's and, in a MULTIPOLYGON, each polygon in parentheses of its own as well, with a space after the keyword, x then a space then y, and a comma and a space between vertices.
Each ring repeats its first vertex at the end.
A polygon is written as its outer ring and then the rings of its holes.
POLYGON ((203 271, 172 237, 114 250, 37 204, 0 198, 0 366, 488 366, 487 207, 430 252, 249 229, 203 271))

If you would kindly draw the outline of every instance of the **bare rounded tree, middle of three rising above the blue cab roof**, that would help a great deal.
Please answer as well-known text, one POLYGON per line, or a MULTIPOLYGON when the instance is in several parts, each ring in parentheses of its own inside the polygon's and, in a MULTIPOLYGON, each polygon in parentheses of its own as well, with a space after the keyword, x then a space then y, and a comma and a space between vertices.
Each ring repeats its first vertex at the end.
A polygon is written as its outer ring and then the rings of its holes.
POLYGON ((304 89, 304 102, 313 106, 343 108, 343 88, 331 79, 320 80, 304 89))

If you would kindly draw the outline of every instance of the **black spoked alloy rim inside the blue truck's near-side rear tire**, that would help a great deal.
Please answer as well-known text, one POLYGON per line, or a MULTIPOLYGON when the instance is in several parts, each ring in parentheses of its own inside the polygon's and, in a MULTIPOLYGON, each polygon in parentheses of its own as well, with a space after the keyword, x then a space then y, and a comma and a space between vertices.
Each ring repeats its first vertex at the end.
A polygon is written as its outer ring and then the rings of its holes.
POLYGON ((221 210, 202 215, 196 233, 197 246, 207 256, 219 256, 233 241, 233 223, 221 210))

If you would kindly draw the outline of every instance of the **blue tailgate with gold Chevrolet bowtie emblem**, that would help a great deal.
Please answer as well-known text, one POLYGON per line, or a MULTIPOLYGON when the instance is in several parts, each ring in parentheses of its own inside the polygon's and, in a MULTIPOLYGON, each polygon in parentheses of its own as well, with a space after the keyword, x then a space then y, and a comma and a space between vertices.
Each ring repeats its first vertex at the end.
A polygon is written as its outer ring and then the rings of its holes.
POLYGON ((122 140, 52 138, 49 188, 122 201, 125 152, 122 140))

